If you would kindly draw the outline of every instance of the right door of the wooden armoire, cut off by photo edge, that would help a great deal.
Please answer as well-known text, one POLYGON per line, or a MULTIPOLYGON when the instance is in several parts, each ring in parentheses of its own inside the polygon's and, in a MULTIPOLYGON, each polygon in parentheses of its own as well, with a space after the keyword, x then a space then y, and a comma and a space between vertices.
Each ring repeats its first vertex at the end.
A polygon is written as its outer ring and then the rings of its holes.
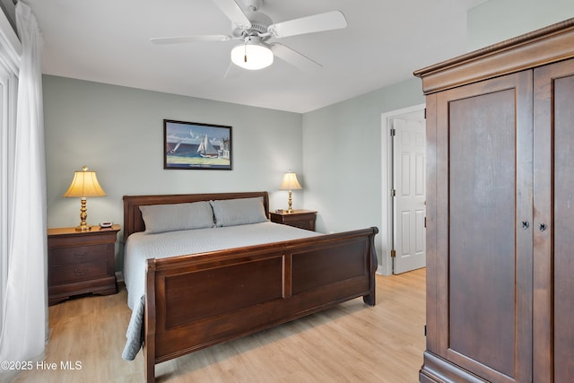
POLYGON ((556 383, 574 377, 572 100, 574 60, 535 70, 535 378, 556 383))

